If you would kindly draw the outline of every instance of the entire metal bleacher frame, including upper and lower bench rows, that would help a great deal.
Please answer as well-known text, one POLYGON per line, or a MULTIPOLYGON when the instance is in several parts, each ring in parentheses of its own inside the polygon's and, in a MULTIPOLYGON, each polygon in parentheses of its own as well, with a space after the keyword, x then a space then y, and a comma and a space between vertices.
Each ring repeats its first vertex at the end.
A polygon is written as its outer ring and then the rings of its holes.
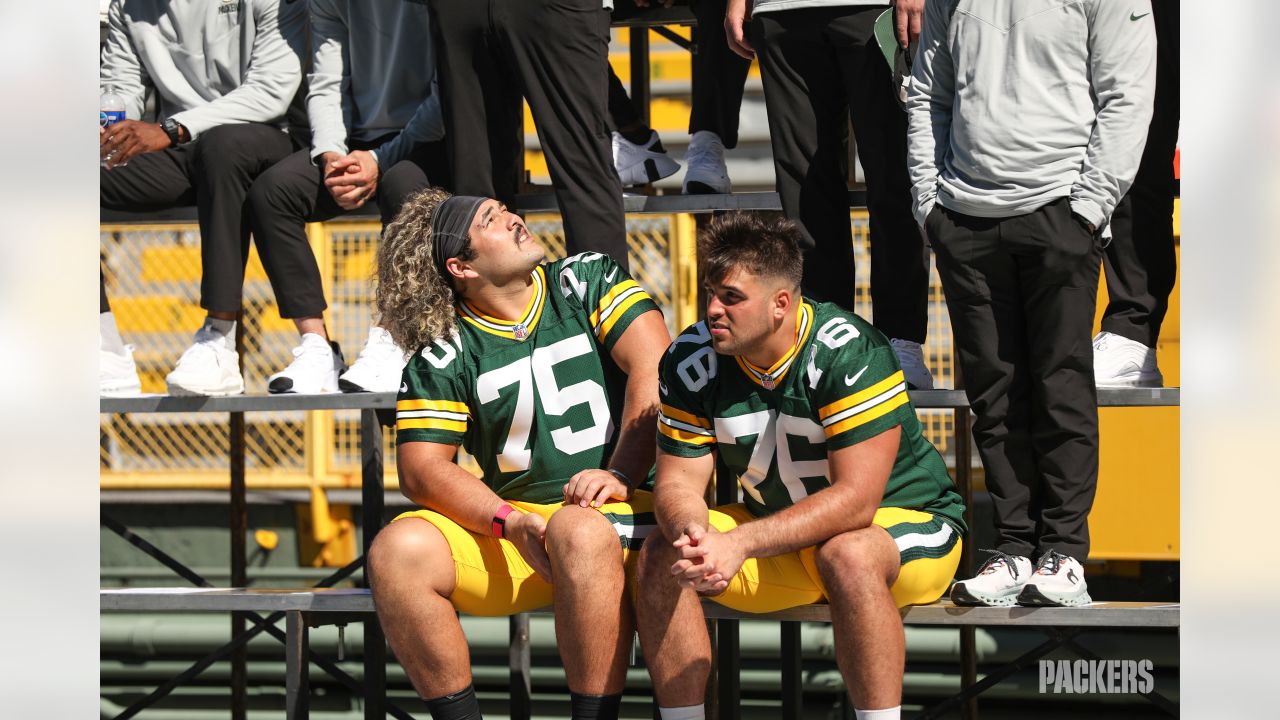
MULTIPOLYGON (((649 108, 649 38, 648 29, 689 47, 684 38, 676 36, 664 26, 692 26, 694 18, 689 8, 652 6, 632 17, 618 19, 616 27, 630 27, 631 44, 631 96, 648 120, 649 108), (635 32, 639 29, 640 32, 635 32)), ((545 188, 526 186, 515 209, 531 211, 556 211, 556 199, 545 188)), ((865 206, 865 192, 850 191, 851 206, 865 206)), ((721 210, 778 210, 776 192, 749 192, 731 195, 627 195, 623 199, 626 213, 689 213, 709 214, 721 210)), ((334 222, 376 219, 371 209, 362 209, 343 215, 334 222)), ((193 223, 193 208, 175 208, 146 214, 102 210, 101 222, 113 223, 193 223)), ((969 434, 969 405, 963 391, 913 391, 911 400, 918 409, 943 409, 955 414, 955 461, 956 484, 966 503, 966 520, 972 518, 972 445, 969 434)), ((123 720, 134 716, 145 707, 155 703, 174 687, 195 678, 212 662, 229 657, 232 661, 232 717, 242 720, 246 716, 246 647, 257 634, 266 633, 285 644, 287 688, 285 715, 289 719, 306 717, 308 712, 308 664, 314 662, 337 678, 353 692, 364 697, 366 720, 383 719, 387 715, 406 719, 410 715, 387 702, 385 697, 385 639, 376 618, 372 615, 372 602, 364 588, 330 588, 330 585, 351 578, 364 568, 364 556, 335 570, 321 580, 316 588, 294 589, 244 589, 248 584, 246 574, 246 536, 248 530, 246 478, 244 478, 244 413, 283 411, 283 410, 360 410, 361 438, 361 480, 362 480, 362 548, 367 551, 381 525, 384 510, 383 498, 383 425, 390 424, 396 396, 393 393, 362 395, 323 395, 323 396, 265 396, 243 395, 234 397, 172 397, 143 396, 129 398, 101 398, 102 414, 154 414, 154 413, 227 413, 229 418, 229 473, 230 473, 230 583, 233 588, 211 588, 210 584, 191 569, 170 557, 163 550, 152 546, 145 538, 132 533, 123 524, 102 515, 102 524, 147 555, 164 564, 177 575, 189 582, 193 588, 186 592, 173 588, 129 588, 100 591, 102 611, 200 611, 229 612, 232 615, 232 641, 205 659, 195 662, 184 673, 161 684, 147 697, 131 705, 116 717, 123 720), (196 589, 200 588, 200 589, 196 589), (325 589, 328 588, 328 589, 325 589), (285 620, 282 633, 275 623, 285 620), (311 652, 307 643, 310 626, 324 624, 344 624, 362 621, 365 629, 364 683, 351 678, 328 659, 311 652), (250 626, 252 624, 252 626, 250 626)), ((1161 389, 1100 389, 1100 406, 1176 406, 1180 402, 1179 388, 1161 389)), ((736 500, 736 487, 723 483, 716 488, 717 502, 736 500)), ((973 570, 973 548, 965 543, 961 560, 961 574, 973 570)), ((358 582, 367 587, 364 578, 358 582)), ((547 610, 543 610, 545 612, 547 610)), ((826 606, 808 606, 771 615, 750 616, 730 611, 707 602, 704 611, 714 624, 713 642, 716 660, 713 665, 713 691, 708 702, 721 719, 739 717, 739 620, 760 618, 781 621, 782 634, 782 708, 783 717, 800 717, 801 711, 801 667, 800 667, 800 623, 829 621, 826 606)), ((979 693, 1025 667, 1037 659, 1057 648, 1073 650, 1078 656, 1093 659, 1093 655, 1075 643, 1075 637, 1093 628, 1179 628, 1179 606, 1176 603, 1094 603, 1082 609, 960 609, 946 602, 931 606, 911 607, 904 611, 904 623, 916 625, 950 625, 960 629, 961 689, 955 696, 929 707, 919 717, 937 717, 959 706, 963 717, 977 717, 975 698, 979 693), (1024 653, 1005 666, 988 673, 980 682, 977 678, 977 648, 974 630, 977 626, 1032 626, 1043 629, 1050 638, 1041 646, 1024 653)), ((529 618, 517 615, 511 619, 511 717, 526 720, 531 710, 530 694, 530 643, 529 618)), ((1149 701, 1170 714, 1176 715, 1176 705, 1167 698, 1149 693, 1149 701)), ((847 705, 846 705, 847 708, 847 705)), ((851 716, 851 712, 849 714, 851 716)))

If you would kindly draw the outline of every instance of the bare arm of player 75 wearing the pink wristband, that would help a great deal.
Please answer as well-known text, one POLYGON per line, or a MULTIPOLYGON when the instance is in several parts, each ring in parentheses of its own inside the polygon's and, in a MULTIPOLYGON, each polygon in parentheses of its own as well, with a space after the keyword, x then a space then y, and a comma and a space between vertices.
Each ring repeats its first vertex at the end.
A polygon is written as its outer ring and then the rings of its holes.
MULTIPOLYGON (((457 447, 438 442, 406 442, 396 448, 401 492, 474 533, 488 536, 504 501, 480 478, 453 461, 457 447)), ((507 516, 506 537, 539 575, 552 577, 547 557, 547 524, 532 512, 507 516)))

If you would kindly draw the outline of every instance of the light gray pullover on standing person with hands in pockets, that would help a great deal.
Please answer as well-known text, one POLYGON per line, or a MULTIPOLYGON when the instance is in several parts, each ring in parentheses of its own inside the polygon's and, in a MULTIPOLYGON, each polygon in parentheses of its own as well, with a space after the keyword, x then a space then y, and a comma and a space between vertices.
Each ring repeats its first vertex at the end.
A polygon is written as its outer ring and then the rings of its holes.
POLYGON ((1138 172, 1156 81, 1151 0, 925 0, 908 94, 915 219, 1069 196, 1103 228, 1138 172))

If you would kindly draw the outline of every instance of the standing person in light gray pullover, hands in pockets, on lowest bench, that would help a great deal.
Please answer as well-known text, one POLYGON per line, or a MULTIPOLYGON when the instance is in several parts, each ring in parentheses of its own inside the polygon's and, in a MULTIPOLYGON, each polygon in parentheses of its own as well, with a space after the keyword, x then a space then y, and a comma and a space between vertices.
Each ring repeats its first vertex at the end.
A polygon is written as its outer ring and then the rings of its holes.
POLYGON ((998 534, 977 577, 951 589, 956 603, 1091 602, 1089 332, 1102 237, 1151 120, 1151 12, 1149 0, 925 4, 908 95, 911 195, 998 534))

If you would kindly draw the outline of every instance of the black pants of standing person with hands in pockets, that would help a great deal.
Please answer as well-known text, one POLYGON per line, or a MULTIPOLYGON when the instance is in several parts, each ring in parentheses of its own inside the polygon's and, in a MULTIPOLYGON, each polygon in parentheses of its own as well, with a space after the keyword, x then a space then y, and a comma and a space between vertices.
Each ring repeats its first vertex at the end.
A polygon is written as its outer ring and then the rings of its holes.
POLYGON ((974 410, 996 548, 1083 561, 1098 480, 1089 333, 1101 243, 1066 199, 997 219, 940 205, 924 227, 974 410))

